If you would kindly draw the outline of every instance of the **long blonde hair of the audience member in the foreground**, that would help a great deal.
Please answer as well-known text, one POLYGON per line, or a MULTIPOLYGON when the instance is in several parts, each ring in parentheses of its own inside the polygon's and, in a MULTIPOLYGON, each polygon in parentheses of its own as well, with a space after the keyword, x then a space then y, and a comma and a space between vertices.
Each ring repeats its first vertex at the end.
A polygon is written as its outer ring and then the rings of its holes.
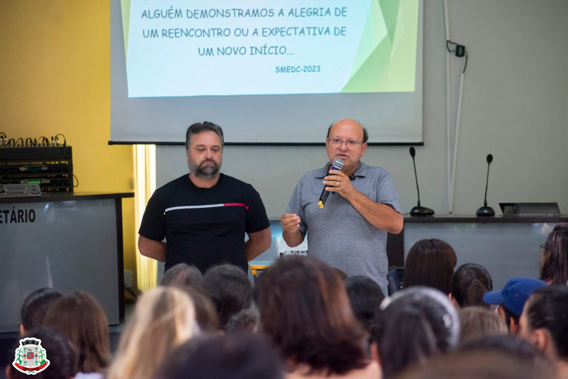
POLYGON ((193 303, 184 291, 172 286, 147 291, 126 324, 107 378, 151 378, 164 357, 197 329, 193 303))

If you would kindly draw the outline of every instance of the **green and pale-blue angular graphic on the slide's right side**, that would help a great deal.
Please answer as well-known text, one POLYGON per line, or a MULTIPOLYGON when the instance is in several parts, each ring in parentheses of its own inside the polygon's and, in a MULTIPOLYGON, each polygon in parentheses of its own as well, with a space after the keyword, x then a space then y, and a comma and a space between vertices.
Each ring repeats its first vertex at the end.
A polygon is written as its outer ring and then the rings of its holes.
POLYGON ((415 90, 418 1, 371 3, 351 76, 341 92, 415 90))

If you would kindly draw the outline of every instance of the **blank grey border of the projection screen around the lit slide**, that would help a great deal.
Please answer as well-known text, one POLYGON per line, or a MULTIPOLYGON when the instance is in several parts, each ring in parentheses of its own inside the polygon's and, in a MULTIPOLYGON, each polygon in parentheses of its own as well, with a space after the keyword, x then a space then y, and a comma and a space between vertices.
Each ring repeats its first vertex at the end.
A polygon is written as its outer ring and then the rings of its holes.
POLYGON ((369 130, 369 145, 424 145, 423 0, 419 6, 416 85, 412 93, 128 98, 120 0, 110 0, 110 28, 110 145, 183 145, 187 126, 206 119, 223 127, 226 145, 324 145, 325 136, 321 132, 333 121, 345 117, 362 121, 369 130), (412 139, 383 138, 385 130, 392 133, 408 125, 419 129, 419 135, 412 139), (267 134, 270 138, 256 137, 255 131, 262 127, 270 129, 267 134), (143 128, 160 130, 160 134, 145 135, 140 132, 143 128), (313 135, 302 136, 308 128, 314 131, 313 135))

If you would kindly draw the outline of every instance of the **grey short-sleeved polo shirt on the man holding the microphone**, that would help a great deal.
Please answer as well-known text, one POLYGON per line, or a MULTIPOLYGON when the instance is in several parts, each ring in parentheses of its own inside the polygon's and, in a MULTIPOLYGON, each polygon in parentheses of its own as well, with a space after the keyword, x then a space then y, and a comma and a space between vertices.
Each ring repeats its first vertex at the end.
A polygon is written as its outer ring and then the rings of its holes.
MULTIPOLYGON (((345 198, 331 193, 323 209, 318 206, 329 164, 305 174, 290 198, 286 213, 300 217, 299 230, 307 232, 308 255, 339 268, 348 276, 364 275, 387 293, 387 232, 371 225, 345 198)), ((398 191, 389 173, 360 162, 351 180, 357 191, 400 212, 398 191)))

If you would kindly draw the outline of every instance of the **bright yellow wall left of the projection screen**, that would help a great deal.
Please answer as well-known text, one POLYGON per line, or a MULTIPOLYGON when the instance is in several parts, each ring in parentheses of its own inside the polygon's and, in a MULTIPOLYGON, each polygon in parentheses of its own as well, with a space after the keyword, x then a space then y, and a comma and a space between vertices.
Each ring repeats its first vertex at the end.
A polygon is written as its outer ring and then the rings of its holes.
MULTIPOLYGON (((132 146, 110 139, 107 0, 0 0, 0 132, 64 134, 76 191, 133 191, 132 146)), ((134 272, 134 201, 123 199, 124 268, 134 272)))

